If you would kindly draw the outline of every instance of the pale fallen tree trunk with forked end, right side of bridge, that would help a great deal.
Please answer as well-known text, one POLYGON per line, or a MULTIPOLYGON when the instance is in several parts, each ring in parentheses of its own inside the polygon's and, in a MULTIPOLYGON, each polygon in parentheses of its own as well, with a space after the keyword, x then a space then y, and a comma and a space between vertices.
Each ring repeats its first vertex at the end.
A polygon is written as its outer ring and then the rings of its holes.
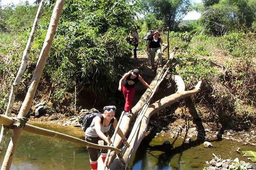
POLYGON ((143 116, 143 119, 140 124, 140 128, 134 134, 130 134, 129 138, 132 138, 130 143, 131 147, 127 148, 123 156, 123 159, 126 162, 125 164, 126 166, 119 159, 116 158, 110 166, 111 169, 113 170, 122 169, 124 166, 125 166, 125 169, 128 168, 128 164, 131 161, 131 157, 136 152, 137 148, 140 145, 140 142, 143 140, 146 133, 146 129, 148 127, 149 119, 154 113, 172 105, 173 103, 179 101, 182 98, 197 94, 201 87, 201 81, 200 81, 195 86, 195 89, 190 91, 185 91, 185 85, 180 76, 175 76, 175 82, 177 85, 177 92, 175 94, 171 94, 170 96, 164 97, 163 99, 160 99, 157 102, 154 102, 153 104, 151 104, 148 107, 145 115, 143 116))

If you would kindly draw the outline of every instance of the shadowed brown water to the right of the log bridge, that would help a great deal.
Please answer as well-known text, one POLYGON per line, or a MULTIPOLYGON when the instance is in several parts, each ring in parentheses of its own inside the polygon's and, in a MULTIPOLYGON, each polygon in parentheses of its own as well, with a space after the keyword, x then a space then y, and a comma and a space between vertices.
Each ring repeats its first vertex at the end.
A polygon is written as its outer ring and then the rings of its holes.
POLYGON ((152 139, 149 145, 146 143, 140 145, 133 163, 131 163, 132 170, 202 170, 207 166, 205 161, 212 159, 212 153, 217 156, 221 155, 223 159, 238 157, 239 160, 248 161, 246 157, 236 152, 236 148, 255 150, 254 146, 244 146, 241 143, 228 140, 212 141, 213 148, 206 148, 203 144, 184 145, 183 139, 180 138, 173 146, 159 145, 166 140, 172 144, 175 140, 169 137, 169 133, 159 136, 161 137, 152 139))

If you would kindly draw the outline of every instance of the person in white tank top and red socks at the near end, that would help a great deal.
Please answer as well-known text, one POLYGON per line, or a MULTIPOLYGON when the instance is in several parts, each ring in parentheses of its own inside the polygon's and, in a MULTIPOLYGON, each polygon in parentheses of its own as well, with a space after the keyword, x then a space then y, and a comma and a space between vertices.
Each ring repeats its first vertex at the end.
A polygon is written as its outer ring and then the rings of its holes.
MULTIPOLYGON (((113 125, 113 127, 116 128, 117 120, 114 117, 115 113, 116 113, 115 106, 105 106, 103 108, 103 114, 94 117, 90 127, 88 127, 85 130, 85 141, 98 144, 99 140, 102 139, 104 140, 104 145, 106 144, 111 145, 110 138, 108 137, 108 131, 111 125, 113 125)), ((126 141, 126 138, 119 127, 117 130, 117 133, 119 134, 119 136, 121 136, 123 144, 129 147, 130 145, 126 141)), ((90 158, 90 166, 92 170, 97 170, 98 149, 87 147, 87 150, 90 158)), ((103 149, 101 150, 103 163, 105 163, 107 153, 108 153, 108 150, 103 150, 103 149)))

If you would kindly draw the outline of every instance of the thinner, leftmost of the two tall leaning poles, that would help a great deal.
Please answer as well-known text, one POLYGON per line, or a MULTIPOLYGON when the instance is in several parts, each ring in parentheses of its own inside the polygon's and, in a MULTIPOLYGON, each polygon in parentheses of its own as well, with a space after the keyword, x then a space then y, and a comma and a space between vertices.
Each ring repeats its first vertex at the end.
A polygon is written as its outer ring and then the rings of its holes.
MULTIPOLYGON (((9 96, 9 101, 8 101, 8 105, 7 105, 6 113, 5 113, 6 116, 10 116, 10 114, 12 112, 13 104, 15 102, 15 96, 17 94, 17 90, 18 90, 18 87, 20 85, 20 80, 21 80, 21 78, 22 78, 22 76, 25 72, 27 62, 30 59, 30 51, 31 51, 32 43, 33 43, 33 40, 34 40, 34 37, 35 37, 35 32, 38 28, 38 23, 39 23, 41 14, 43 12, 43 8, 44 8, 44 0, 42 0, 40 2, 39 6, 38 6, 38 11, 37 11, 36 16, 35 16, 35 20, 34 20, 30 35, 29 35, 29 39, 28 39, 27 44, 26 44, 26 48, 23 51, 22 62, 20 64, 19 71, 18 71, 18 73, 15 77, 14 82, 12 83, 12 88, 11 88, 11 92, 10 92, 10 96, 9 96)), ((4 141, 5 141, 5 138, 6 138, 6 132, 7 132, 7 128, 2 126, 1 133, 0 133, 0 153, 2 152, 2 149, 3 149, 4 141)))

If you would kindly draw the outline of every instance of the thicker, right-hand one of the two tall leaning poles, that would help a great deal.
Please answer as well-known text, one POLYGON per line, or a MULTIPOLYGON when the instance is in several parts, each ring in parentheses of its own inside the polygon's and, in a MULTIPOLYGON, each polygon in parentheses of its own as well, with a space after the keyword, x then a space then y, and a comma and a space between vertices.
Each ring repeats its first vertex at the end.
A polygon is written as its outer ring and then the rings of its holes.
MULTIPOLYGON (((39 55, 38 62, 37 62, 35 72, 32 77, 31 84, 29 86, 26 97, 21 105, 18 117, 26 116, 27 113, 29 112, 29 109, 31 107, 32 101, 35 96, 36 89, 38 87, 39 80, 43 73, 45 62, 47 60, 47 57, 48 57, 48 54, 49 54, 49 51, 50 51, 50 48, 52 45, 53 37, 54 37, 55 31, 56 31, 56 28, 58 26, 58 21, 60 19, 61 11, 63 9, 64 3, 65 3, 65 0, 57 0, 56 1, 55 7, 52 12, 52 17, 51 17, 51 20, 49 23, 49 27, 47 30, 46 38, 44 40, 44 45, 43 45, 41 53, 39 55)), ((9 170, 10 169, 12 160, 13 160, 16 148, 17 148, 17 144, 20 139, 21 131, 22 131, 21 128, 14 128, 14 130, 13 130, 14 135, 12 136, 12 139, 7 148, 6 155, 4 157, 1 170, 9 170)))

